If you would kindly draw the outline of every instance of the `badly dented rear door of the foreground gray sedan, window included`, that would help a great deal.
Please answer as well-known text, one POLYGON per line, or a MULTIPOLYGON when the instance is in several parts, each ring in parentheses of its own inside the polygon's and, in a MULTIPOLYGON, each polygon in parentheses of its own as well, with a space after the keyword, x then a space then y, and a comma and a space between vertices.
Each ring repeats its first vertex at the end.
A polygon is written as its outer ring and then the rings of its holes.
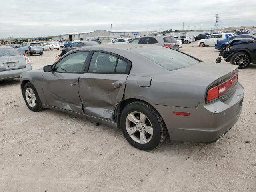
POLYGON ((79 95, 84 114, 113 120, 122 101, 131 63, 106 52, 94 51, 86 73, 79 78, 79 95))

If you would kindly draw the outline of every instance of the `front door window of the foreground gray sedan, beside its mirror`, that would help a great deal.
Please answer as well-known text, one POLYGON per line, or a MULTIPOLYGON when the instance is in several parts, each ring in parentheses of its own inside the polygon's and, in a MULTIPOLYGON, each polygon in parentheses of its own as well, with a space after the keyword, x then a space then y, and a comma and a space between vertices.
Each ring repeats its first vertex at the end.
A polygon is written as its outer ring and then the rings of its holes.
POLYGON ((80 73, 89 52, 76 52, 67 55, 54 67, 54 71, 63 73, 80 73))

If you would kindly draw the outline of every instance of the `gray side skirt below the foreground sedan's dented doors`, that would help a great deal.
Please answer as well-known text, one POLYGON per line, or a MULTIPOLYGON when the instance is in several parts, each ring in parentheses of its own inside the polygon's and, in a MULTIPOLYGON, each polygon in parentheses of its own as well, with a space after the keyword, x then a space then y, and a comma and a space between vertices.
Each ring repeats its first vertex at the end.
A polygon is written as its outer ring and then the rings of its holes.
POLYGON ((73 112, 73 111, 69 111, 69 110, 66 110, 66 109, 61 109, 61 108, 53 107, 53 106, 49 106, 49 105, 44 105, 44 104, 42 104, 42 106, 44 108, 62 111, 62 112, 65 112, 65 113, 68 113, 68 114, 71 114, 71 115, 75 115, 75 116, 79 116, 79 117, 82 117, 82 118, 90 119, 92 121, 96 121, 98 123, 106 124, 110 127, 117 128, 116 122, 114 122, 112 120, 109 120, 109 119, 103 119, 103 118, 98 118, 98 117, 94 117, 94 116, 90 116, 90 115, 80 114, 80 113, 77 113, 77 112, 73 112))

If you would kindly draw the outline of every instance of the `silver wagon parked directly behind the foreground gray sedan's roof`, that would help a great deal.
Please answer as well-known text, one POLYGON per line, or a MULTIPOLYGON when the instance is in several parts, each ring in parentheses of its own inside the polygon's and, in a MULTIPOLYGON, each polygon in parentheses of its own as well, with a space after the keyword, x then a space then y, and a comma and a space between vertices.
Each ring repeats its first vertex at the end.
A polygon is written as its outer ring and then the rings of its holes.
POLYGON ((180 43, 173 36, 149 35, 135 38, 130 44, 154 44, 178 50, 180 43))

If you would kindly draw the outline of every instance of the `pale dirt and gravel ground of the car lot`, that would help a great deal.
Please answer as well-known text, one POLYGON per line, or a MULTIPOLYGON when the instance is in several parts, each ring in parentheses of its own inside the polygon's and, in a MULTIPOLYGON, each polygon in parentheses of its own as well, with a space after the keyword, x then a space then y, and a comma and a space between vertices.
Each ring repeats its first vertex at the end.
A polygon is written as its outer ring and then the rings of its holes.
MULTIPOLYGON (((208 62, 218 57, 214 47, 200 48, 197 42, 180 50, 208 62)), ((52 64, 59 53, 30 56, 32 68, 52 64)), ((150 152, 132 147, 115 128, 55 110, 32 112, 19 80, 2 81, 0 191, 255 192, 256 65, 239 70, 239 81, 245 89, 243 111, 222 140, 167 138, 150 152)))

